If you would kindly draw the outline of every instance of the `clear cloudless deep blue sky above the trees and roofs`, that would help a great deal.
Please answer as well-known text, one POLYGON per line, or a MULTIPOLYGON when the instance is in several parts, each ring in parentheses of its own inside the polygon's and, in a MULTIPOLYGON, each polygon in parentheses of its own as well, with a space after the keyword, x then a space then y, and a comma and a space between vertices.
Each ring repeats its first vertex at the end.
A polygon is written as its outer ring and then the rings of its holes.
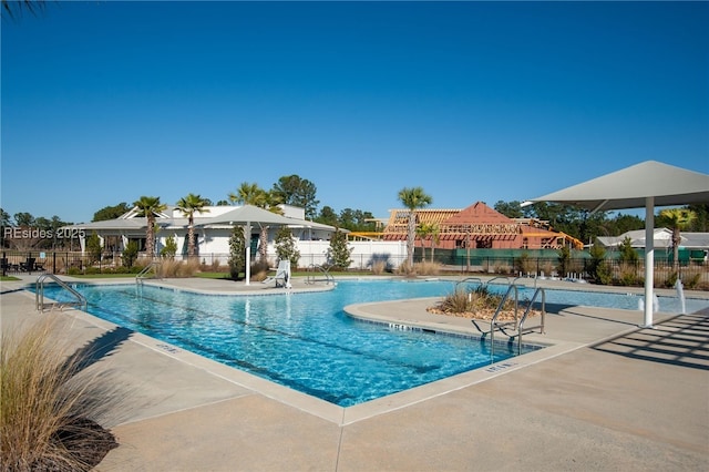
POLYGON ((1 206, 88 222, 297 174, 388 217, 709 173, 708 2, 49 2, 2 19, 1 206))

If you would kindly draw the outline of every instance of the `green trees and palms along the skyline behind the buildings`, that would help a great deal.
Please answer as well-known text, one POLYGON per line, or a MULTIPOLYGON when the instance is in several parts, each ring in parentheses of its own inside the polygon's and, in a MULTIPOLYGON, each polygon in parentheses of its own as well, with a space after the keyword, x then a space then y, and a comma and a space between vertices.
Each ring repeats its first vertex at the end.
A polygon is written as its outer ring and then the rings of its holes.
MULTIPOLYGON (((422 187, 403 188, 398 194, 399 201, 404 207, 415 212, 433 203, 433 197, 428 195, 422 187)), ((193 226, 195 213, 206 211, 205 207, 213 205, 233 205, 249 204, 275 213, 281 213, 278 205, 286 204, 304 208, 307 219, 316 223, 326 224, 336 228, 348 229, 351 232, 374 232, 374 215, 371 212, 356 208, 343 208, 337 212, 333 207, 320 205, 317 198, 317 186, 307 178, 298 175, 288 175, 280 177, 269 189, 260 187, 256 183, 243 182, 234 192, 225 195, 225 198, 214 203, 212 199, 202 197, 193 193, 176 202, 175 206, 182 211, 183 215, 189 219, 189 229, 193 226)), ((116 205, 105 206, 96 211, 92 222, 101 222, 114 219, 137 207, 141 215, 154 218, 156 213, 164 211, 167 206, 161 202, 160 197, 142 196, 137 201, 129 204, 121 202, 116 205), (153 215, 153 216, 150 216, 153 215)), ((549 227, 555 232, 562 232, 573 236, 584 243, 593 243, 599 236, 617 236, 628 230, 643 229, 645 227, 644 218, 635 215, 610 212, 590 213, 569 205, 540 202, 523 207, 517 201, 504 202, 499 201, 494 204, 494 209, 511 218, 535 218, 547 222, 549 227)), ((709 205, 688 205, 682 209, 689 212, 691 217, 681 222, 679 225, 681 230, 707 233, 709 232, 709 205)), ((71 223, 62 220, 61 217, 54 215, 51 218, 34 217, 29 213, 16 213, 10 216, 4 209, 0 208, 2 227, 32 227, 39 229, 56 230, 62 226, 71 223)), ((675 228, 678 215, 668 212, 658 212, 655 219, 655 227, 675 228)), ((148 225, 150 226, 150 225, 148 225)), ((4 233, 4 232, 3 232, 4 233)), ((417 226, 415 218, 408 230, 408 242, 413 240, 418 235, 420 237, 433 237, 435 228, 420 228, 417 226), (425 232, 423 230, 425 229, 425 232)), ((146 235, 148 236, 148 235, 146 235)), ((4 234, 2 237, 2 246, 7 247, 4 234)), ((147 243, 153 238, 147 237, 147 243)), ((189 237, 188 253, 194 254, 194 236, 189 237)), ((44 246, 56 247, 59 243, 65 242, 43 242, 44 246)), ((409 243, 413 244, 413 243, 409 243)), ((148 249, 146 247, 146 249, 148 249)))

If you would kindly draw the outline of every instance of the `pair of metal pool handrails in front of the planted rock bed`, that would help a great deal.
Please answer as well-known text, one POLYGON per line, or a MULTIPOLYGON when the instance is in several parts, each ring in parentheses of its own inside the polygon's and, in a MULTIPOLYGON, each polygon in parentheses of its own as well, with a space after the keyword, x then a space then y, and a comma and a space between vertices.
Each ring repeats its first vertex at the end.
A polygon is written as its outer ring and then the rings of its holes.
POLYGON ((508 341, 512 342, 514 340, 514 338, 517 338, 517 355, 522 353, 522 337, 523 335, 530 334, 532 331, 534 331, 535 329, 540 329, 540 334, 544 335, 545 331, 545 322, 546 322, 546 293, 544 290, 544 288, 538 287, 534 290, 534 295, 532 296, 532 299, 530 300, 526 309, 524 310, 524 314, 522 315, 522 318, 520 318, 520 314, 518 314, 518 307, 520 307, 520 290, 517 285, 513 284, 507 288, 507 291, 505 291, 505 295, 502 297, 502 299, 500 300, 500 305, 497 305, 497 309, 495 310, 495 314, 493 315, 492 319, 490 320, 490 330, 489 331, 483 331, 480 326, 477 325, 477 322, 475 322, 475 320, 471 320, 473 326, 475 326, 475 328, 477 328, 477 330, 480 332, 482 332, 482 339, 485 339, 485 337, 487 337, 487 335, 490 335, 490 352, 491 356, 494 356, 495 353, 495 332, 500 331, 503 335, 507 336, 510 339, 508 341), (500 314, 502 312, 502 309, 505 305, 505 301, 507 301, 507 298, 510 298, 510 294, 514 293, 514 321, 497 321, 497 317, 500 316, 500 314), (527 320, 527 317, 530 315, 530 312, 532 311, 532 307, 534 306, 534 301, 537 299, 538 296, 542 296, 542 301, 541 301, 541 319, 540 319, 540 325, 537 326, 528 326, 525 327, 524 324, 527 320), (515 332, 508 332, 508 331, 515 331, 515 332))

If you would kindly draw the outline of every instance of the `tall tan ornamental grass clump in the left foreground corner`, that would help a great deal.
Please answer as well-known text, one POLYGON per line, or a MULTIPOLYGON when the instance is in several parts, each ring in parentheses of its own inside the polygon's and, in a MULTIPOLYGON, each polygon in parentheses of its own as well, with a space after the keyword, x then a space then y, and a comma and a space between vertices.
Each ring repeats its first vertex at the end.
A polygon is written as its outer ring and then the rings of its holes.
POLYGON ((2 471, 89 471, 117 445, 96 421, 116 408, 120 396, 111 382, 82 371, 85 358, 66 357, 58 319, 42 317, 23 334, 2 331, 2 471), (99 458, 97 450, 104 450, 99 458))

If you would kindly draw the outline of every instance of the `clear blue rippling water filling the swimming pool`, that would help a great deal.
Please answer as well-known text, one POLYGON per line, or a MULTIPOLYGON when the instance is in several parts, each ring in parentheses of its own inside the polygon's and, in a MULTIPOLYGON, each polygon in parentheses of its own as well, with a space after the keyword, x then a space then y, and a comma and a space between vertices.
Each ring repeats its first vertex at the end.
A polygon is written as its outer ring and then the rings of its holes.
MULTIPOLYGON (((489 342, 477 338, 394 329, 357 321, 343 311, 350 304, 444 296, 453 291, 452 281, 343 280, 330 291, 269 296, 199 295, 133 285, 75 288, 86 297, 92 315, 342 407, 516 353, 501 343, 493 357, 489 342)), ((547 304, 637 308, 637 296, 546 294, 547 304)), ((44 295, 69 299, 51 285, 44 295)), ((523 290, 521 297, 525 295, 532 294, 523 290)), ((523 353, 534 349, 527 346, 523 353)))

